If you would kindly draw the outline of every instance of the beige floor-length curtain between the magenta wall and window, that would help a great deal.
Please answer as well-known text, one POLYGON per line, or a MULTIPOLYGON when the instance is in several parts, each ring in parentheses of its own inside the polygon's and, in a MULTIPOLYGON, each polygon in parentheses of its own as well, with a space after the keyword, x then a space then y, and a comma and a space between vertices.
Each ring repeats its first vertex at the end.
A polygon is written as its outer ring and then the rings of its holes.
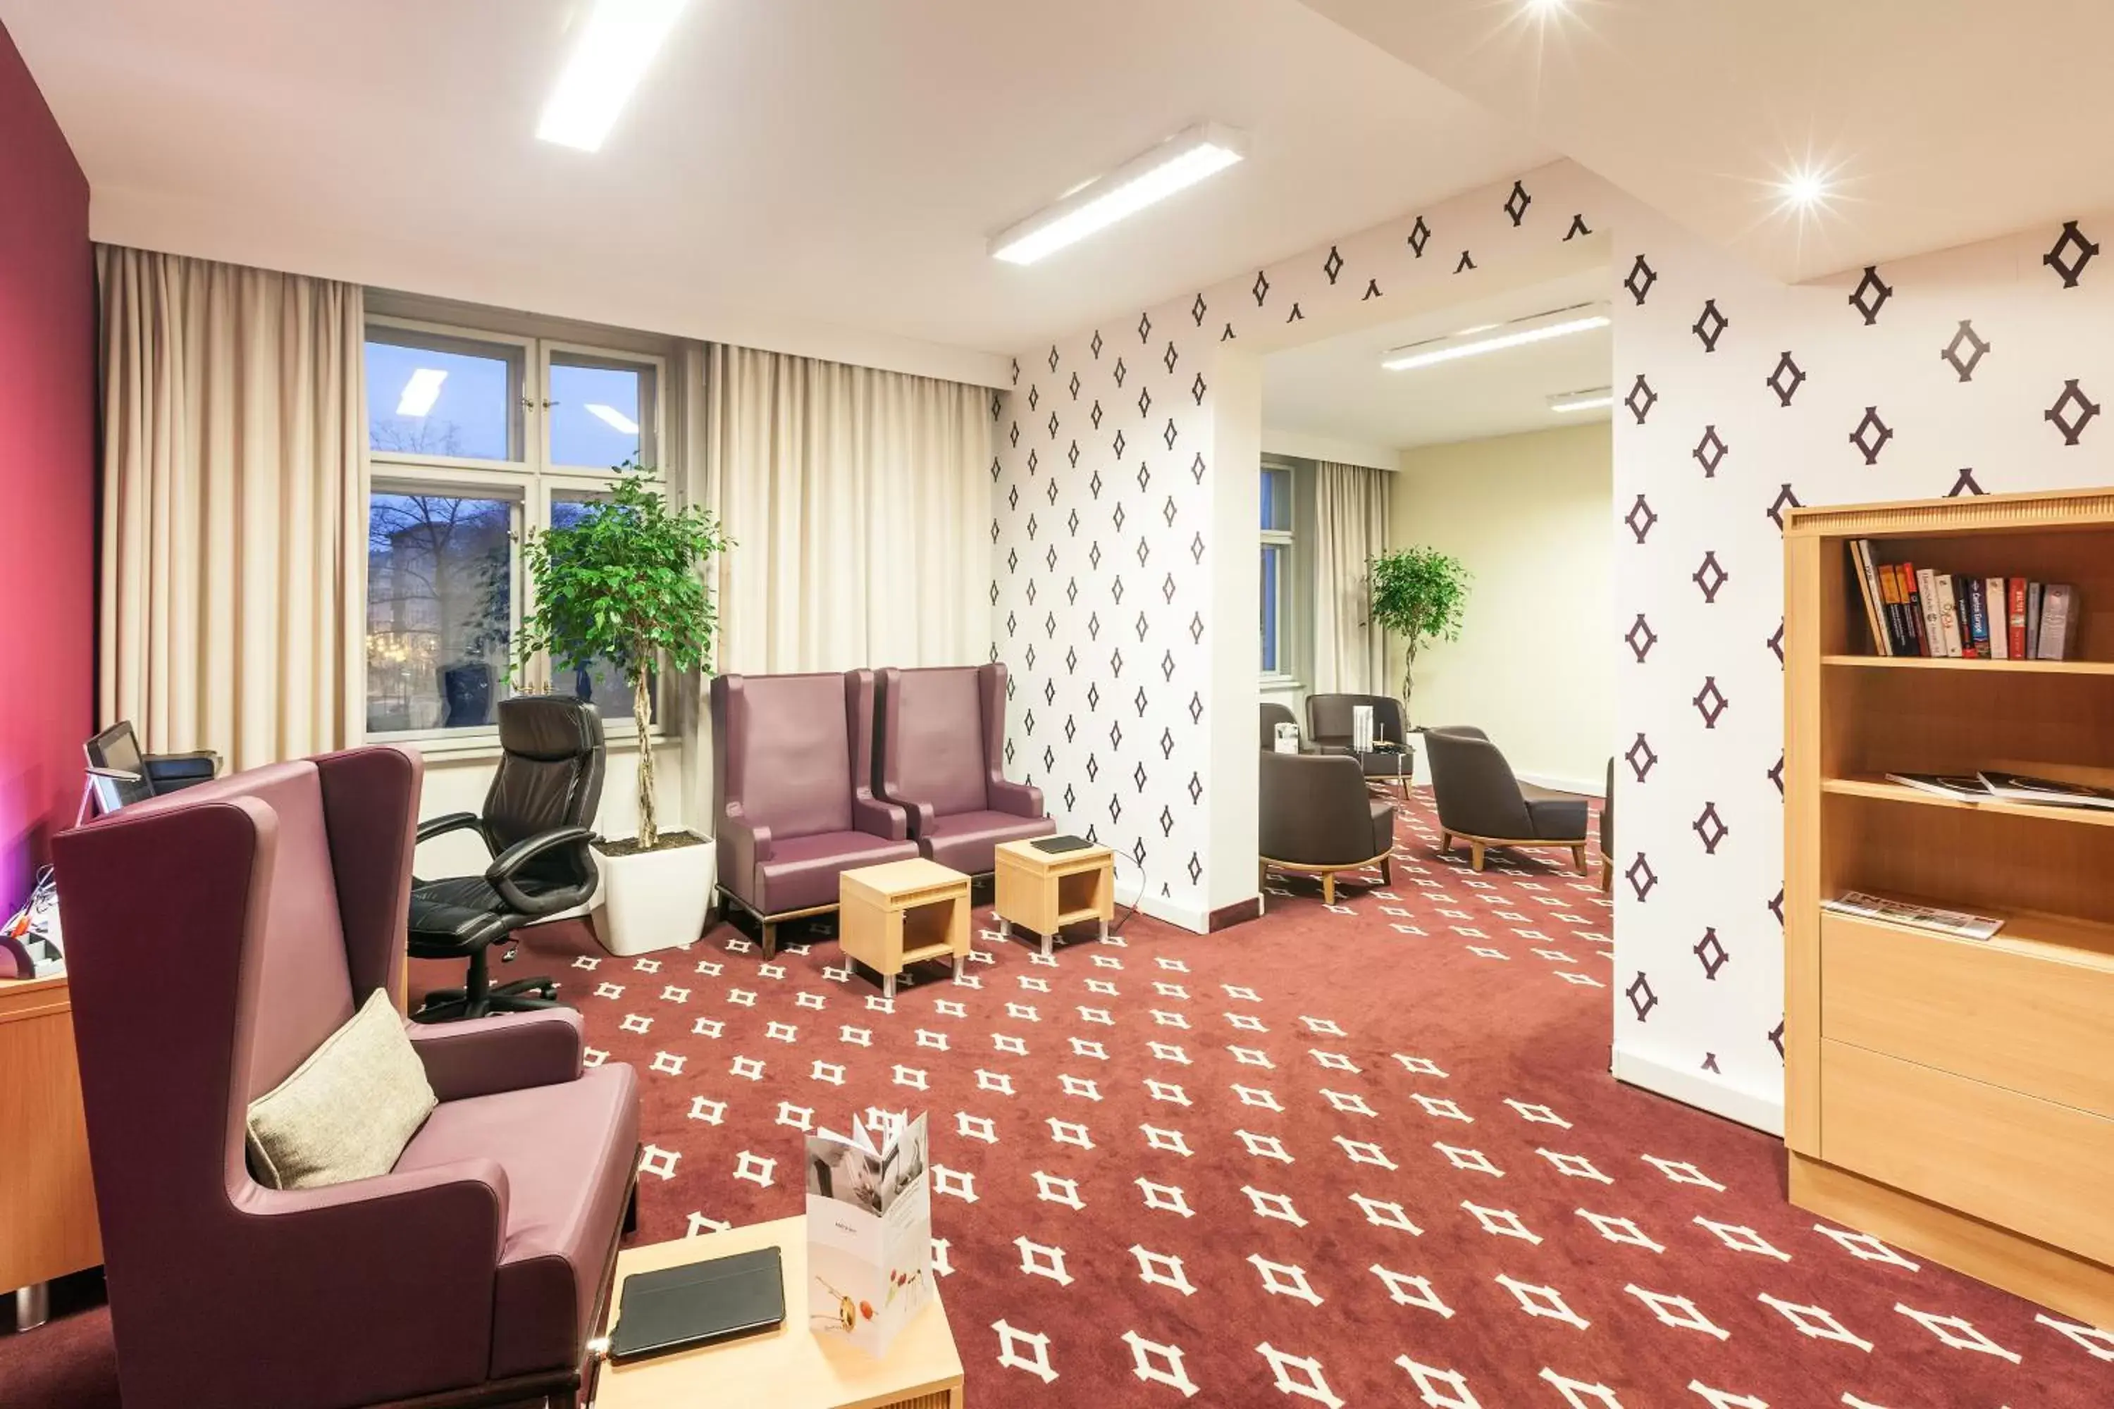
POLYGON ((97 245, 97 708, 233 769, 355 737, 361 289, 97 245))

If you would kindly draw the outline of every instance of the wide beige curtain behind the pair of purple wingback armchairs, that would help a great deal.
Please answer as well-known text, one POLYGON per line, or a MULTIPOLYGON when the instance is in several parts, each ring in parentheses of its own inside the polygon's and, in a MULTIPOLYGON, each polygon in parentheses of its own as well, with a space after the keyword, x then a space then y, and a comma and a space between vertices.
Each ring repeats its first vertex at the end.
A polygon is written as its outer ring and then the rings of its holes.
POLYGON ((983 661, 987 401, 958 382, 708 349, 687 471, 738 543, 719 562, 719 670, 983 661))

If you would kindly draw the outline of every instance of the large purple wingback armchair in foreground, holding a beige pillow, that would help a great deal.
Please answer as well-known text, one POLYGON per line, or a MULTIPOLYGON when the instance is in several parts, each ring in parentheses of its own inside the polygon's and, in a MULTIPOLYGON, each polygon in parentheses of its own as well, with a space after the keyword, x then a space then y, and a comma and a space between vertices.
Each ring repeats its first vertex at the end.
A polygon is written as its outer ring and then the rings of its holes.
POLYGON ((53 843, 127 1409, 575 1403, 638 1162, 579 1014, 408 1027, 440 1107, 387 1175, 245 1162, 247 1103, 402 993, 419 777, 361 748, 53 843))

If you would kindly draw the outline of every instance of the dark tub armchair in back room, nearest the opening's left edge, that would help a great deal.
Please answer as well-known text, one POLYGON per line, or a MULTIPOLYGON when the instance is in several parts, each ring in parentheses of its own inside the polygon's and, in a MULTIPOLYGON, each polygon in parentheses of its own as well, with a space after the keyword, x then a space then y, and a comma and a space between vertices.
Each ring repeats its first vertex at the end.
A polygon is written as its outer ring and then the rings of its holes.
MULTIPOLYGON (((1262 706, 1262 731, 1271 737, 1283 706, 1262 706)), ((1357 758, 1345 754, 1279 754, 1262 750, 1262 796, 1256 849, 1258 881, 1271 870, 1321 877, 1321 898, 1336 904, 1336 872, 1380 868, 1393 881, 1395 805, 1366 794, 1357 758)))

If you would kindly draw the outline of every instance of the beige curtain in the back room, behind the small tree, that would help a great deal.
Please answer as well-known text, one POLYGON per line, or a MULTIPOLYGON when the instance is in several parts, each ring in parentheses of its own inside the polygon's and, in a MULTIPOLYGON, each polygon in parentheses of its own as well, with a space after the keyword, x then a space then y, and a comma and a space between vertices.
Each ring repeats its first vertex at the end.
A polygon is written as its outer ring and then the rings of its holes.
POLYGON ((1387 551, 1387 471, 1315 465, 1313 691, 1391 695, 1387 634, 1366 610, 1366 562, 1387 551))

